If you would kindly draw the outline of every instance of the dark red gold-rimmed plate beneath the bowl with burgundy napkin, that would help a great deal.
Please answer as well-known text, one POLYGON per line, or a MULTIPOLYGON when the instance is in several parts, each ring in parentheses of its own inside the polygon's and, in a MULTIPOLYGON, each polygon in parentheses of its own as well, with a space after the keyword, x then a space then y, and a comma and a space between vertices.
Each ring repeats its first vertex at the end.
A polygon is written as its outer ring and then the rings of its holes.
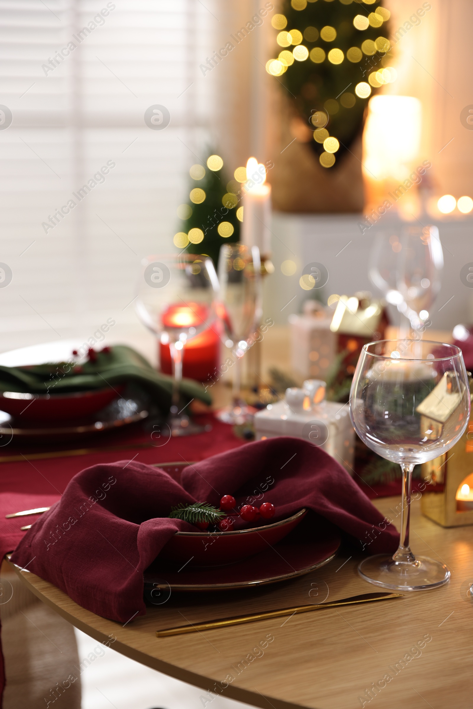
POLYGON ((282 542, 235 564, 207 569, 189 569, 187 564, 178 569, 157 557, 145 571, 145 598, 155 603, 150 594, 157 588, 168 592, 223 591, 274 584, 327 564, 335 557, 338 547, 338 528, 321 517, 307 515, 282 542))

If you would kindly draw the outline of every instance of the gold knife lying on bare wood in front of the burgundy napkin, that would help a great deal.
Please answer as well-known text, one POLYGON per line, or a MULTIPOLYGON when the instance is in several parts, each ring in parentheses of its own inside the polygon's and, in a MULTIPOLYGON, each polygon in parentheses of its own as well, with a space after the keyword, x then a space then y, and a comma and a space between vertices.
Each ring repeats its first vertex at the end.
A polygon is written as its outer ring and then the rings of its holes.
POLYGON ((362 593, 360 596, 350 596, 341 598, 340 601, 328 601, 313 605, 296 605, 294 608, 279 608, 279 610, 267 610, 264 613, 252 615, 235 615, 233 618, 220 618, 219 620, 209 620, 208 623, 196 623, 196 625, 179 625, 169 627, 167 630, 157 630, 156 637, 168 637, 169 635, 183 635, 187 632, 199 632, 201 630, 213 630, 216 627, 227 627, 228 625, 240 625, 241 623, 253 623, 255 620, 267 620, 268 618, 281 618, 283 615, 295 615, 296 613, 308 613, 310 610, 322 610, 323 608, 335 608, 336 605, 353 605, 355 603, 368 603, 369 601, 387 601, 389 598, 400 598, 402 593, 362 593))

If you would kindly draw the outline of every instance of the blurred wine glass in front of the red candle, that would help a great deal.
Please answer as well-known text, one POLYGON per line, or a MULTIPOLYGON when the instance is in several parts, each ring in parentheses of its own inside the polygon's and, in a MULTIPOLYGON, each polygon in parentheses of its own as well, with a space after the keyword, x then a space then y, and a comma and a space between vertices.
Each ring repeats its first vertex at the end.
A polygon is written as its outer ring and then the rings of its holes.
POLYGON ((173 436, 204 430, 179 411, 179 384, 184 345, 216 323, 218 287, 208 256, 181 253, 147 256, 142 261, 135 308, 162 344, 169 344, 173 374, 169 427, 173 436))

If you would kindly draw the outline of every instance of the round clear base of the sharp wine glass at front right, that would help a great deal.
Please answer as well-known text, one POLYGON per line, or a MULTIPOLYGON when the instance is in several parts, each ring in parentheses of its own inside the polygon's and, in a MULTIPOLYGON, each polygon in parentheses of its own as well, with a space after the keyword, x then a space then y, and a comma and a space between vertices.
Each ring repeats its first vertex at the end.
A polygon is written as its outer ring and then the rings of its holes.
POLYGON ((447 566, 434 559, 416 557, 412 563, 394 562, 389 554, 363 559, 358 565, 358 573, 370 584, 394 591, 423 591, 443 586, 450 579, 447 566))

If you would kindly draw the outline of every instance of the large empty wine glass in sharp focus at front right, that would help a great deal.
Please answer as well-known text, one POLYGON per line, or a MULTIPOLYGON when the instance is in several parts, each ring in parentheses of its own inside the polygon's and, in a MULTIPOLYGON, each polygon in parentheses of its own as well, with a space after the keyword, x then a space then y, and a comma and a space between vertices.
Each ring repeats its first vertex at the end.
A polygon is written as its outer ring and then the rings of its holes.
POLYGON ((421 591, 450 579, 445 564, 414 557, 409 547, 412 471, 455 445, 469 411, 459 347, 427 340, 382 340, 363 347, 350 393, 352 424, 371 450, 402 469, 399 549, 394 557, 377 554, 362 561, 358 571, 366 581, 421 591))

